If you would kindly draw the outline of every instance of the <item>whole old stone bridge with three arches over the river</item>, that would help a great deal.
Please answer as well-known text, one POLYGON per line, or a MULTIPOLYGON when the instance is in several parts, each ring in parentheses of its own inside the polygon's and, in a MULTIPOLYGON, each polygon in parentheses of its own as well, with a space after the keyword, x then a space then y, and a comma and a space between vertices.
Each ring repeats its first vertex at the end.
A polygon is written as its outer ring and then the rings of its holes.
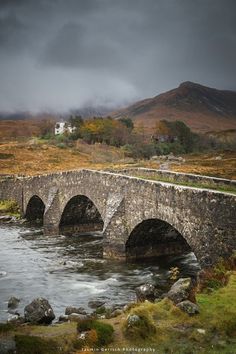
POLYGON ((101 231, 105 257, 192 250, 205 266, 236 249, 233 193, 127 174, 77 170, 2 178, 0 199, 16 200, 22 216, 40 220, 46 235, 101 231))

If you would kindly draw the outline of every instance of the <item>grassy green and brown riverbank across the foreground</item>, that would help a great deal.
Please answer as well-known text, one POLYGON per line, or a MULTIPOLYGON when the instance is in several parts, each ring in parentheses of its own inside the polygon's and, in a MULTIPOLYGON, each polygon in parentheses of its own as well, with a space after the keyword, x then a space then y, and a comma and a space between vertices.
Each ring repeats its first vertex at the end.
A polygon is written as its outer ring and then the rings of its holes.
MULTIPOLYGON (((194 316, 181 311, 172 301, 163 299, 158 303, 132 304, 115 318, 99 320, 114 329, 112 343, 103 346, 101 352, 113 353, 120 349, 129 353, 136 348, 133 352, 139 349, 140 352, 160 354, 235 353, 236 272, 230 271, 228 279, 224 287, 205 288, 196 294, 199 314, 194 316), (129 327, 131 316, 139 317, 141 321, 134 321, 129 327)), ((95 331, 91 331, 93 336, 84 341, 87 345, 83 350, 79 349, 81 335, 77 327, 81 328, 82 323, 83 320, 46 327, 1 325, 0 340, 8 341, 8 344, 16 340, 19 354, 78 354, 85 350, 91 353, 92 348, 96 348, 97 336, 95 331)), ((100 330, 100 333, 106 336, 107 331, 100 330)))

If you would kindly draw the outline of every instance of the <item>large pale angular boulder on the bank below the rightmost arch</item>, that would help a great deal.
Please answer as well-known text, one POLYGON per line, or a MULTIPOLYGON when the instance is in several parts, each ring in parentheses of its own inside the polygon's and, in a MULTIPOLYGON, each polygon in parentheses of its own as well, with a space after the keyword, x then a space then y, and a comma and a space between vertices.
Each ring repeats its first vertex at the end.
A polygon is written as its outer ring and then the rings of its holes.
POLYGON ((175 304, 178 304, 189 298, 191 290, 191 278, 180 278, 172 285, 170 291, 167 293, 167 297, 175 304))

